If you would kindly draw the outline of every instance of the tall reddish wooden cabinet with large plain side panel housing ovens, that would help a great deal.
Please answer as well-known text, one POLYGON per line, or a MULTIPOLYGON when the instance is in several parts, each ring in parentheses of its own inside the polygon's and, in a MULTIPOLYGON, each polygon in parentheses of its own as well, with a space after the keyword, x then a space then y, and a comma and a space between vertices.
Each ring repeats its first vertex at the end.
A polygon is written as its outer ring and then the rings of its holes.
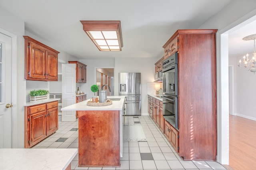
POLYGON ((216 32, 177 30, 163 46, 171 55, 172 42, 178 44, 178 154, 184 160, 216 160, 216 32))

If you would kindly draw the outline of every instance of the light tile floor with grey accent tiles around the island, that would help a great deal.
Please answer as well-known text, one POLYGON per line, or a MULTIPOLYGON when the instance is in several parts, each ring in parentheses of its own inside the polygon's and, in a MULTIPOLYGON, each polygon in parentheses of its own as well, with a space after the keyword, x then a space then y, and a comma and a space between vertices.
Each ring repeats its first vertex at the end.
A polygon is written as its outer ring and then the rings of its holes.
MULTIPOLYGON (((214 161, 184 161, 178 156, 149 116, 126 116, 124 124, 141 124, 147 141, 124 142, 120 167, 78 167, 78 155, 72 170, 226 170, 214 161)), ((78 148, 78 120, 62 122, 59 129, 33 148, 78 148)))

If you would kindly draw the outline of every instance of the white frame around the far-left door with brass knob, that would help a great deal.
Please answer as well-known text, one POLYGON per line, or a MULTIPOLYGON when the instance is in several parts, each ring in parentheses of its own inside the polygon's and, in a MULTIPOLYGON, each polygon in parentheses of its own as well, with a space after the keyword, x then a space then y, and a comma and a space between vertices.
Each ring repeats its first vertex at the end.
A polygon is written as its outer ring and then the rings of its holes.
POLYGON ((12 119, 11 119, 11 123, 12 123, 12 148, 17 148, 17 136, 18 136, 18 131, 17 131, 17 35, 14 35, 13 33, 10 33, 9 31, 6 31, 2 28, 0 28, 0 33, 7 35, 9 37, 12 38, 12 56, 11 56, 11 60, 12 60, 12 90, 11 90, 11 94, 12 94, 12 119))

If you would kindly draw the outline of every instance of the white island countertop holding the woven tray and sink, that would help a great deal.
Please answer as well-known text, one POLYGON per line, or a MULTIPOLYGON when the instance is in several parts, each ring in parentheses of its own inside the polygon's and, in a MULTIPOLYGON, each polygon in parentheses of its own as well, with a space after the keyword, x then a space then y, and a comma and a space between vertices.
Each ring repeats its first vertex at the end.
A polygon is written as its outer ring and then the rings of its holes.
POLYGON ((119 101, 112 100, 112 104, 108 106, 87 106, 87 102, 90 99, 77 104, 73 104, 67 107, 61 108, 62 111, 76 110, 76 111, 85 111, 85 110, 122 110, 124 104, 125 96, 107 96, 107 98, 120 98, 119 101))

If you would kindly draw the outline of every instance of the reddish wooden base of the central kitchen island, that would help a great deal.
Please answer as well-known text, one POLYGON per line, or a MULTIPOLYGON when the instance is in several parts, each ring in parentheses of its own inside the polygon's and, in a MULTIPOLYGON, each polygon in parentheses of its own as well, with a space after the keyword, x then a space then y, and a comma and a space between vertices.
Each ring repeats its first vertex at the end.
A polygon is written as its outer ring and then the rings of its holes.
POLYGON ((120 111, 78 111, 78 166, 120 167, 120 111))

